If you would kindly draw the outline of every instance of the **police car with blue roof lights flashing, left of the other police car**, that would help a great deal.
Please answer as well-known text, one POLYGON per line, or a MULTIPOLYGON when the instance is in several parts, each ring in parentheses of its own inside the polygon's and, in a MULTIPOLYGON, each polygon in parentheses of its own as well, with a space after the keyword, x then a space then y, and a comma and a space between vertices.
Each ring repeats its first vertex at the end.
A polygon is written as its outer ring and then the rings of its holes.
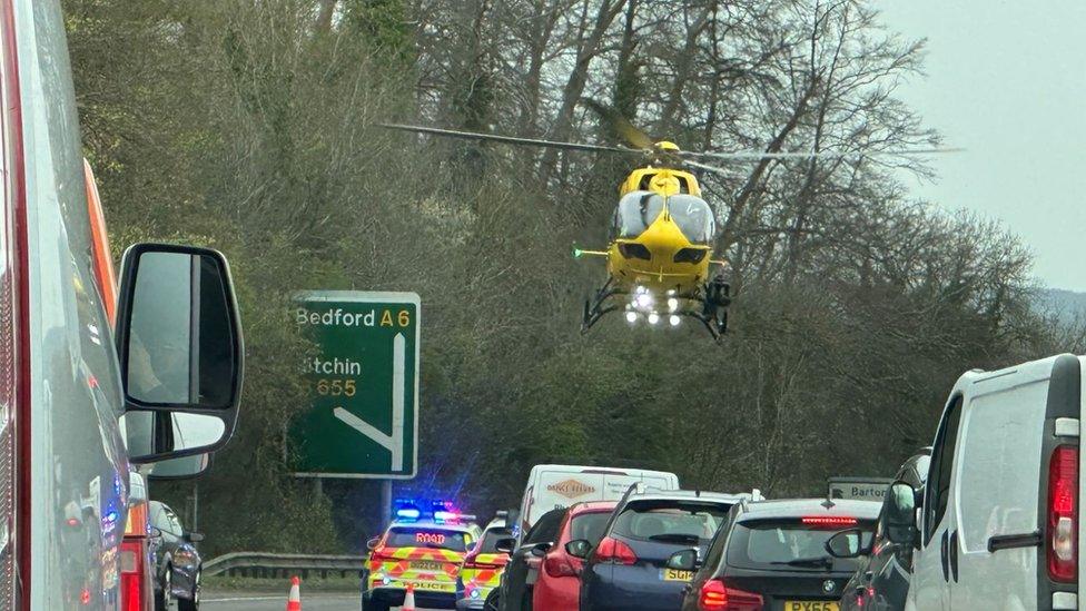
POLYGON ((468 550, 482 539, 475 518, 456 512, 451 504, 397 502, 395 521, 368 542, 369 560, 362 575, 363 611, 387 611, 404 603, 407 587, 415 604, 453 609, 456 580, 468 550))

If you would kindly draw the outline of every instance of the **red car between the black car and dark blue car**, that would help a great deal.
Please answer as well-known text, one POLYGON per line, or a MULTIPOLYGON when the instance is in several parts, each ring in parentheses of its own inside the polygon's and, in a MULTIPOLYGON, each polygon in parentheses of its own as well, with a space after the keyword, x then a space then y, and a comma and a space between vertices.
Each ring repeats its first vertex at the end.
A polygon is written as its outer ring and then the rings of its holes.
POLYGON ((600 542, 616 501, 593 501, 570 506, 559 538, 543 558, 543 570, 532 590, 533 609, 576 609, 584 561, 565 549, 571 541, 600 542))

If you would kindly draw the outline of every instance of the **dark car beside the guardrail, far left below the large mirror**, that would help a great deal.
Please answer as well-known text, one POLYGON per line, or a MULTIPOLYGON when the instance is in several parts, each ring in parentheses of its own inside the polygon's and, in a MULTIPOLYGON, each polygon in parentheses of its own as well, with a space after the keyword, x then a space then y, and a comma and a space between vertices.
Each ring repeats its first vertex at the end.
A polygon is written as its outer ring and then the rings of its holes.
POLYGON ((204 540, 188 532, 168 505, 148 504, 151 523, 150 553, 155 561, 155 609, 169 609, 177 600, 179 611, 200 608, 200 571, 203 563, 196 543, 204 540))

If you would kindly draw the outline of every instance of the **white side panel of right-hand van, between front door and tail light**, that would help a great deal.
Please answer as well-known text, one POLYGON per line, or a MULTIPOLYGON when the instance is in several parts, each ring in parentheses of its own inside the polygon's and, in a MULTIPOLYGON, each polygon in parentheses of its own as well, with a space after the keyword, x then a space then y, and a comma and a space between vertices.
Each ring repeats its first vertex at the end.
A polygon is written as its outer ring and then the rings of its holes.
MULTIPOLYGON (((1038 476, 1045 450, 1052 362, 977 377, 966 388, 947 546, 951 609, 1037 607, 1038 545, 989 551, 1029 535, 1043 519, 1038 476)), ((1044 607, 1044 605, 1043 605, 1044 607)))

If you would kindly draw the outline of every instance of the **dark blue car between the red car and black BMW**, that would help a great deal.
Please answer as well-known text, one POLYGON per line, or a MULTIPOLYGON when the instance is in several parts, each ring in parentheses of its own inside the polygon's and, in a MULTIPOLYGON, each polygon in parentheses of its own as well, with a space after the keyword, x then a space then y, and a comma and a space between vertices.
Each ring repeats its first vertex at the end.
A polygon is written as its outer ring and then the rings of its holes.
POLYGON ((629 493, 615 507, 604 536, 591 551, 572 541, 569 553, 585 556, 581 611, 672 611, 682 604, 693 571, 667 566, 690 548, 704 553, 732 505, 749 494, 694 491, 629 493))

